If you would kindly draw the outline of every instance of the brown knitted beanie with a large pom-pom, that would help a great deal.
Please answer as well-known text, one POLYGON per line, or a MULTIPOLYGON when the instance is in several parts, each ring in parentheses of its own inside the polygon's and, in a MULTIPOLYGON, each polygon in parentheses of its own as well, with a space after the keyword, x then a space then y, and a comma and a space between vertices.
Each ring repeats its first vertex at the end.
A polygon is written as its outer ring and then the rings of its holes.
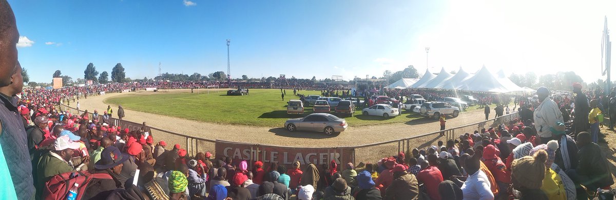
POLYGON ((525 188, 539 189, 545 177, 546 159, 548 159, 548 154, 544 150, 538 150, 533 156, 515 159, 511 164, 511 175, 524 184, 525 188))

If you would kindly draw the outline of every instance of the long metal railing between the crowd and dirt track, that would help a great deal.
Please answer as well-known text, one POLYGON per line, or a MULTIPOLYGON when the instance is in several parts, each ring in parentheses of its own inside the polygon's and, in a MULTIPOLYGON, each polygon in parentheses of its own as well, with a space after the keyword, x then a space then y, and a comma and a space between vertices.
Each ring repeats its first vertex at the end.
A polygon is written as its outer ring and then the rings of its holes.
MULTIPOLYGON (((67 105, 60 105, 60 109, 63 111, 68 111, 71 114, 79 114, 79 115, 85 112, 82 110, 77 110, 76 108, 72 108, 67 105)), ((89 118, 92 119, 92 113, 87 113, 87 114, 89 118)), ((330 152, 330 151, 336 152, 338 150, 341 151, 343 149, 346 149, 346 150, 351 149, 352 159, 349 161, 344 161, 344 162, 353 162, 354 164, 356 164, 355 162, 364 162, 364 163, 376 162, 376 161, 379 161, 381 158, 397 155, 400 151, 402 151, 403 153, 407 155, 410 155, 410 151, 413 148, 421 149, 421 148, 426 148, 428 146, 436 145, 436 143, 439 140, 446 143, 447 140, 452 140, 452 139, 455 140, 457 138, 456 135, 472 133, 475 130, 480 131, 481 129, 484 129, 484 128, 487 129, 487 127, 496 127, 498 126, 498 124, 507 123, 510 120, 513 120, 514 118, 519 118, 519 113, 516 112, 516 113, 506 114, 504 116, 500 116, 494 119, 488 119, 488 120, 476 122, 473 124, 467 124, 464 126, 453 127, 453 128, 445 129, 445 130, 439 130, 439 131, 430 132, 427 134, 413 135, 411 137, 400 138, 397 140, 389 140, 385 142, 377 142, 377 143, 371 143, 367 145, 333 146, 333 147, 291 147, 291 146, 261 145, 261 144, 250 144, 250 143, 241 143, 241 142, 229 142, 229 141, 222 141, 222 140, 210 140, 207 138, 200 138, 200 137, 195 137, 195 136, 191 136, 187 134, 180 134, 177 132, 158 129, 152 126, 148 126, 148 127, 150 127, 150 129, 152 130, 156 130, 156 132, 152 133, 152 136, 156 140, 165 140, 169 144, 175 144, 175 143, 185 144, 187 148, 187 153, 189 156, 195 156, 200 151, 201 152, 210 151, 211 153, 216 154, 217 144, 220 144, 220 145, 223 145, 223 144, 224 145, 229 145, 229 144, 252 145, 254 146, 254 149, 256 149, 257 151, 259 150, 259 146, 271 146, 271 147, 278 147, 278 148, 294 148, 294 149, 301 149, 301 150, 320 149, 320 150, 324 150, 327 152, 330 152), (441 132, 443 132, 444 135, 440 135, 441 132)), ((99 114, 99 121, 102 121, 101 114, 99 114)), ((111 124, 114 124, 115 126, 120 126, 122 129, 128 128, 129 130, 138 130, 142 127, 142 124, 137 123, 137 122, 131 122, 131 121, 126 121, 123 119, 117 119, 117 118, 111 118, 111 117, 109 119, 109 122, 111 124)), ((412 130, 413 126, 409 126, 408 128, 411 130, 410 131, 411 133, 418 133, 412 130)), ((375 137, 377 136, 378 135, 375 135, 375 137)), ((172 146, 173 145, 168 145, 167 148, 172 148, 172 146)), ((251 149, 251 152, 252 151, 253 150, 251 149)), ((409 156, 407 157, 410 158, 409 156)), ((328 157, 328 159, 331 159, 331 158, 328 157)), ((256 156, 253 156, 253 154, 251 154, 249 160, 250 161, 261 161, 261 159, 259 159, 258 154, 256 154, 256 156)))

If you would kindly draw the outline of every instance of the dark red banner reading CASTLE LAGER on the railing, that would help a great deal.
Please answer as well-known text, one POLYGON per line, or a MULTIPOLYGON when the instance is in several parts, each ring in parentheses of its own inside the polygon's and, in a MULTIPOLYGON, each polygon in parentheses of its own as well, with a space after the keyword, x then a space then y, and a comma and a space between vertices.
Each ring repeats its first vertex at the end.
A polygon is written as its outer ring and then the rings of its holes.
POLYGON ((291 167, 295 161, 299 161, 302 166, 309 163, 318 166, 323 163, 330 163, 332 160, 336 161, 337 164, 354 162, 352 148, 294 148, 250 145, 217 140, 216 158, 225 158, 227 156, 232 158, 234 164, 246 160, 250 162, 250 166, 255 161, 261 161, 264 164, 276 162, 278 164, 285 164, 287 167, 291 167))

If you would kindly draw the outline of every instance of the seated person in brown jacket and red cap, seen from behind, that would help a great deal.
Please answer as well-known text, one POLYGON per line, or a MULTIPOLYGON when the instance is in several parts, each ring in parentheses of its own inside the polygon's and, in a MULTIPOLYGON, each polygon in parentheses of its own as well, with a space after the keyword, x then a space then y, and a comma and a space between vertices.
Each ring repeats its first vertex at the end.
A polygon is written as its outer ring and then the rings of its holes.
POLYGON ((404 166, 400 164, 394 167, 393 172, 394 181, 387 188, 386 199, 417 199, 419 197, 419 183, 415 175, 408 174, 404 166))

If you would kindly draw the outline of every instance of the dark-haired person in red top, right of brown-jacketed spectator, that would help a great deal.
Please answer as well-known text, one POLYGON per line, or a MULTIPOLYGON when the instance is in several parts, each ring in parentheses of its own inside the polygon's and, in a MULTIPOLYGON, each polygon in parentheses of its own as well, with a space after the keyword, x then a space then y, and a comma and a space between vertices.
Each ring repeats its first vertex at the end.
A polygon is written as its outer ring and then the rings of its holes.
POLYGON ((443 182, 443 174, 436 167, 439 165, 436 154, 429 154, 428 162, 430 165, 417 174, 417 180, 426 186, 430 199, 440 200, 439 184, 443 182))

